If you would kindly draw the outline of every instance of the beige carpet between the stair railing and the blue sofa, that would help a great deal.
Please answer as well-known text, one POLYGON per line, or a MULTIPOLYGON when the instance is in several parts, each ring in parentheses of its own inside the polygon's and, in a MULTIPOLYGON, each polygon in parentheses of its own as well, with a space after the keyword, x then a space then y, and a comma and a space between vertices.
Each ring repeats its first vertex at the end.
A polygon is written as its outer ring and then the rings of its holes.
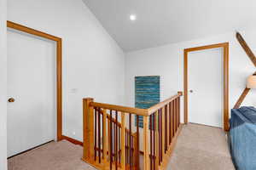
POLYGON ((235 170, 225 133, 217 127, 183 126, 168 170, 235 170))

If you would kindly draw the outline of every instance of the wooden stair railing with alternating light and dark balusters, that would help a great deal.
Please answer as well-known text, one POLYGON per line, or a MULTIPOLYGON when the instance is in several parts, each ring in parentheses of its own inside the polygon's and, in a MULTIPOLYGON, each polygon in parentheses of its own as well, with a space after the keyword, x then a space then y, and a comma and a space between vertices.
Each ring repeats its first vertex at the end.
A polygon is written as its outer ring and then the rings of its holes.
POLYGON ((82 160, 97 169, 166 169, 182 128, 182 95, 178 92, 149 109, 83 99, 82 160), (143 116, 143 128, 138 127, 138 116, 143 116), (132 121, 135 119, 137 123, 132 121), (143 156, 143 162, 140 162, 140 156, 143 156))

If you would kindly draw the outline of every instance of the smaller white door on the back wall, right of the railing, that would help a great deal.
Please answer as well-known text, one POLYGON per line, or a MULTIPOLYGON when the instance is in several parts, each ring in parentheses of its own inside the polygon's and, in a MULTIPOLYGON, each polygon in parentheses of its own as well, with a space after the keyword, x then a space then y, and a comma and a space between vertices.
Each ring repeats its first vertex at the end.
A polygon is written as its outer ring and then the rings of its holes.
POLYGON ((223 56, 222 48, 189 53, 189 122, 223 127, 223 56))

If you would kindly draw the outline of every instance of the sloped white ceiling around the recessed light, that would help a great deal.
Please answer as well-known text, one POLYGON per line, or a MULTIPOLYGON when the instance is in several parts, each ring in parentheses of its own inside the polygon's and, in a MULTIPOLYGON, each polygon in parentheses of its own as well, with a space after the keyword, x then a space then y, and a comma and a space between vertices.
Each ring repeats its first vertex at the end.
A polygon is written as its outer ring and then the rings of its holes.
POLYGON ((256 26, 255 0, 83 1, 126 52, 256 26))

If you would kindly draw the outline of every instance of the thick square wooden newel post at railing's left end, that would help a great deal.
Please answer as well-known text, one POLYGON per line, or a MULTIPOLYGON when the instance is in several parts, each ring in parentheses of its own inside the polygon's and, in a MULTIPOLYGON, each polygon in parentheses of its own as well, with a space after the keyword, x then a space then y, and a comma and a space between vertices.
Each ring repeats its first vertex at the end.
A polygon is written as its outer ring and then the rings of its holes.
POLYGON ((90 102, 93 102, 93 99, 83 99, 84 152, 82 159, 84 161, 90 161, 90 159, 94 156, 94 116, 93 107, 90 106, 90 102))

